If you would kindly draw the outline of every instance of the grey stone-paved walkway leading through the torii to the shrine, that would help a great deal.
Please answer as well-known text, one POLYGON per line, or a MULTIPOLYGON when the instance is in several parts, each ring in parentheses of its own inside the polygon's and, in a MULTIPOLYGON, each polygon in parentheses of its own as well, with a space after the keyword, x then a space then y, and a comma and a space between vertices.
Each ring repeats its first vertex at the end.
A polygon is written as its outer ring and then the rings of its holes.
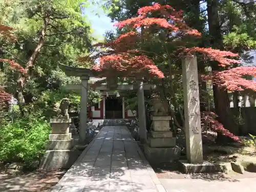
POLYGON ((105 126, 52 192, 165 191, 126 126, 105 126))

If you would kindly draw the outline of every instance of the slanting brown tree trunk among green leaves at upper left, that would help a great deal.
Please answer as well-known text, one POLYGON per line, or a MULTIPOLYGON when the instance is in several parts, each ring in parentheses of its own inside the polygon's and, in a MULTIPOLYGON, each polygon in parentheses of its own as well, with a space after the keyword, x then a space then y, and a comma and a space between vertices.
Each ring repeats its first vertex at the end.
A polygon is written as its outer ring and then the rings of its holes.
POLYGON ((37 56, 40 53, 41 48, 44 46, 45 43, 45 35, 46 35, 46 30, 49 24, 49 15, 45 14, 44 17, 44 26, 42 27, 41 30, 41 35, 39 37, 38 43, 36 48, 34 49, 32 55, 30 56, 27 64, 26 64, 26 70, 28 72, 28 74, 26 75, 19 75, 18 80, 16 81, 17 84, 17 100, 18 100, 18 106, 19 106, 19 110, 20 113, 22 114, 22 116, 24 116, 25 114, 25 109, 24 109, 24 105, 26 104, 26 100, 24 98, 24 86, 26 83, 27 78, 29 78, 29 73, 31 73, 31 68, 33 67, 35 60, 37 58, 37 56))

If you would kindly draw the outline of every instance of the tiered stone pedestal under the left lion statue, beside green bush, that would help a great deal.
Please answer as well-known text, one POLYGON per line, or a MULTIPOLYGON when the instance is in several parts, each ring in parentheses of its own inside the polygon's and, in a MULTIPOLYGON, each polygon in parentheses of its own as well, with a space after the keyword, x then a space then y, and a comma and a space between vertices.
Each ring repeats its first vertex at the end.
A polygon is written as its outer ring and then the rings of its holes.
POLYGON ((70 168, 77 158, 73 150, 72 133, 69 131, 71 119, 50 119, 52 133, 46 145, 46 153, 40 168, 70 168))

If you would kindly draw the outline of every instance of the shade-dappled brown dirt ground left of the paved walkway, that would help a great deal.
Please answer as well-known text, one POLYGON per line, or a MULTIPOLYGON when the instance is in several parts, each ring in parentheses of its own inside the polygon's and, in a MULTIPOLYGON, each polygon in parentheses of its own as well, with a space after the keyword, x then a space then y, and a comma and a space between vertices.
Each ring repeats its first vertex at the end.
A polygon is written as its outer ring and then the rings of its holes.
POLYGON ((20 175, 0 174, 1 192, 49 192, 66 170, 34 170, 20 175))

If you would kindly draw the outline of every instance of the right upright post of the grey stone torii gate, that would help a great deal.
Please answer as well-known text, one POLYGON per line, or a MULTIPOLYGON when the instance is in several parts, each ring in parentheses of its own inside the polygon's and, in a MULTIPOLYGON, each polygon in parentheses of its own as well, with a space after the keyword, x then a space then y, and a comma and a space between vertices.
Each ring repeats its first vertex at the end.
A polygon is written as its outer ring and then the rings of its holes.
POLYGON ((145 101, 144 101, 144 89, 143 79, 138 80, 138 112, 139 112, 139 136, 142 144, 146 143, 146 113, 145 113, 145 101))

